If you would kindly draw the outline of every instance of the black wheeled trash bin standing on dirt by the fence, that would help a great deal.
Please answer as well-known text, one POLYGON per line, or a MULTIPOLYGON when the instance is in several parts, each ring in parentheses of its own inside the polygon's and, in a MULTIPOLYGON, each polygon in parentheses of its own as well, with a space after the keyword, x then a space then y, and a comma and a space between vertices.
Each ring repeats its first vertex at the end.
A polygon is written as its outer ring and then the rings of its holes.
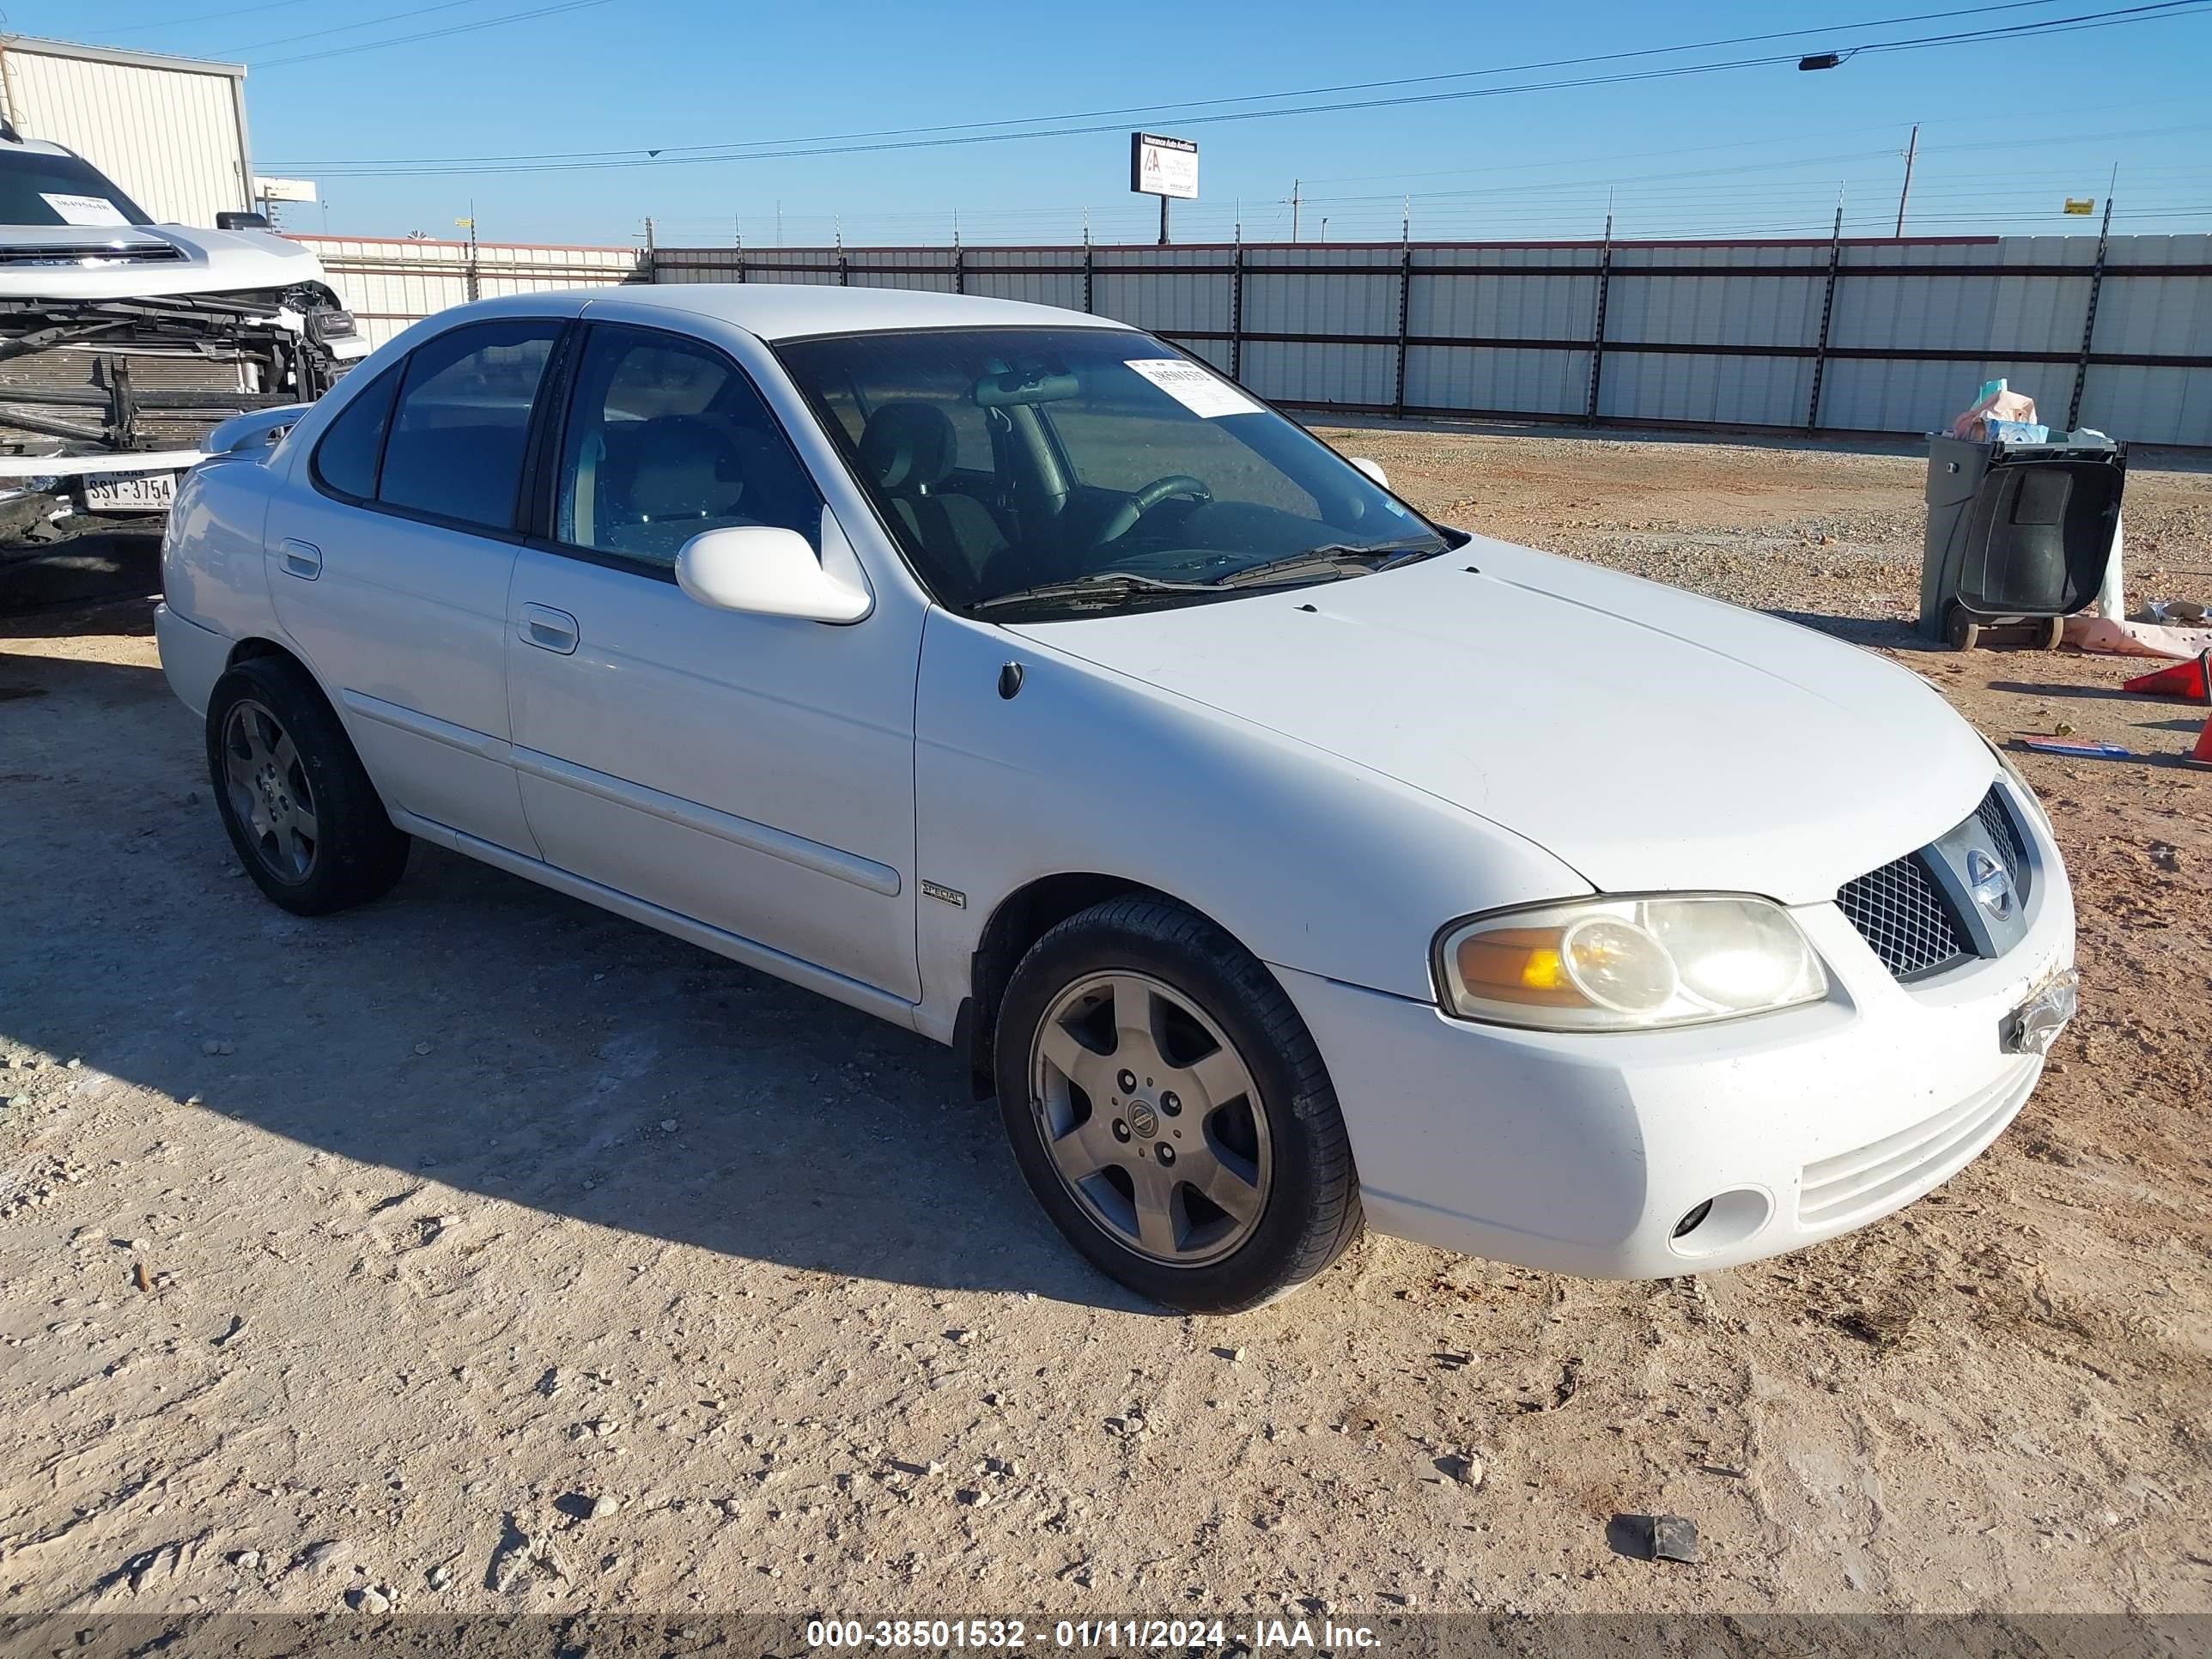
POLYGON ((1929 438, 1920 633, 1971 650, 2024 624, 2026 641, 2057 646, 2104 584, 2126 482, 2128 447, 2095 434, 1929 438))

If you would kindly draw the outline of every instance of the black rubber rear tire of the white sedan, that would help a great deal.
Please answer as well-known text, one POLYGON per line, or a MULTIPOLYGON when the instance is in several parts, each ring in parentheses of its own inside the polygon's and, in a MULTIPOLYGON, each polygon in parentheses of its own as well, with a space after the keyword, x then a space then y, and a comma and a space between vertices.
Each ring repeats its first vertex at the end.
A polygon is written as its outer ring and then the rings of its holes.
MULTIPOLYGON (((259 730, 265 734, 265 728, 259 730)), ((305 668, 285 657, 248 657, 215 681, 208 697, 208 781, 246 874, 294 916, 327 916, 365 905, 392 891, 407 869, 411 838, 385 814, 385 803, 323 690, 305 668), (290 739, 296 754, 272 787, 281 801, 301 799, 314 814, 312 843, 290 843, 294 849, 305 847, 292 865, 274 849, 272 834, 259 834, 250 825, 250 792, 241 803, 230 774, 232 750, 226 743, 246 741, 243 721, 257 708, 274 721, 279 737, 290 739), (241 726, 232 723, 234 712, 241 714, 241 726)))

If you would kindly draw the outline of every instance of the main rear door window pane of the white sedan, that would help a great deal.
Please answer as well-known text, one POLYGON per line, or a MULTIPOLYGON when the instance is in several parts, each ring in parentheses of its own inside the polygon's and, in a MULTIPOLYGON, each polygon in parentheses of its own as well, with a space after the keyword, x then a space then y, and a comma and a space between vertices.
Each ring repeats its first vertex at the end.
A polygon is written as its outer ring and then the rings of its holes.
POLYGON ((376 500, 511 531, 553 321, 476 323, 407 358, 376 500))

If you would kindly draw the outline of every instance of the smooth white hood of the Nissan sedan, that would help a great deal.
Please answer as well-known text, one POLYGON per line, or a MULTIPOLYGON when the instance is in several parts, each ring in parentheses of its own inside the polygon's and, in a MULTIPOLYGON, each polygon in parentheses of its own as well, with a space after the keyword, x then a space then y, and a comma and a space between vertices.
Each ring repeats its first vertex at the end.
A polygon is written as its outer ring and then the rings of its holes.
POLYGON ((1011 630, 1451 801, 1601 891, 1834 898, 1960 823, 1997 770, 1931 686, 1871 653, 1484 538, 1323 586, 1011 630))

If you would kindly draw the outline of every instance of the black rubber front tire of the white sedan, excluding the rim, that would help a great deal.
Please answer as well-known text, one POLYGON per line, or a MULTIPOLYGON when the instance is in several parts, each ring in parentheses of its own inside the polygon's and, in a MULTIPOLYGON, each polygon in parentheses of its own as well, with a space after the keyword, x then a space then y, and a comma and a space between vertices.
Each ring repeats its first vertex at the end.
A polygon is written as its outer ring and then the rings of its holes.
POLYGON ((1318 1276, 1360 1234, 1352 1144, 1312 1033, 1250 951, 1181 905, 1113 898, 1040 938, 1000 1002, 993 1068, 1029 1190, 1068 1243, 1141 1296, 1188 1314, 1245 1312, 1318 1276), (1104 973, 1139 973, 1192 1002, 1252 1077, 1250 1106, 1265 1113, 1272 1179, 1250 1234, 1217 1261, 1172 1265, 1130 1250, 1075 1199, 1046 1150, 1031 1046, 1060 998, 1104 973))

